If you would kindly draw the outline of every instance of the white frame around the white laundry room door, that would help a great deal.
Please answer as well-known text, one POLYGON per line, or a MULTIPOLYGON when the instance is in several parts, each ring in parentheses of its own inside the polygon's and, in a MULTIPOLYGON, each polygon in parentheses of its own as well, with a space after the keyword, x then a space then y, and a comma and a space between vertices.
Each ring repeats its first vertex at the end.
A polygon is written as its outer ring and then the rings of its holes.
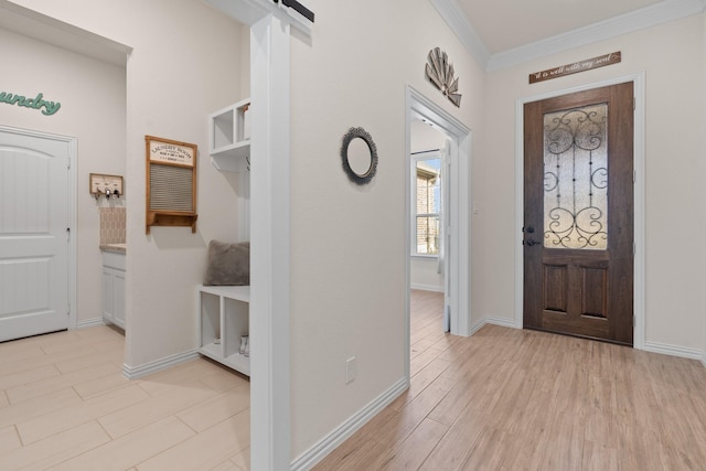
POLYGON ((76 138, 71 136, 54 135, 34 129, 21 129, 0 125, 0 131, 11 132, 20 136, 36 137, 66 142, 68 147, 68 194, 66 204, 68 205, 68 329, 76 329, 76 138))

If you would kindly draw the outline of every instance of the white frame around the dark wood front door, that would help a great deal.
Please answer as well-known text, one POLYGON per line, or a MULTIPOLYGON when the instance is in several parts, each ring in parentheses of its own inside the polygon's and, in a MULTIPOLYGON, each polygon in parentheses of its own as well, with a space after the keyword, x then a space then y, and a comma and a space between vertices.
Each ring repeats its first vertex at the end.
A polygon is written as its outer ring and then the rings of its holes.
POLYGON ((634 84, 634 281, 633 281, 633 347, 644 350, 644 260, 645 260, 645 115, 644 115, 644 72, 609 78, 602 82, 580 85, 573 88, 549 92, 531 97, 520 98, 515 107, 515 327, 522 329, 524 298, 524 264, 522 245, 522 226, 524 225, 524 105, 531 101, 569 95, 592 88, 610 85, 634 84))

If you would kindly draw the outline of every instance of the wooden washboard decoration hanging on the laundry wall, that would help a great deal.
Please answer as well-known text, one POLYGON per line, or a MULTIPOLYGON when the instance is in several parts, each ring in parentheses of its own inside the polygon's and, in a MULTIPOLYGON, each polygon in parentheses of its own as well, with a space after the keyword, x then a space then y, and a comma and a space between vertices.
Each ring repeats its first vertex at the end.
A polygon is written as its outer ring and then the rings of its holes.
POLYGON ((196 156, 193 143, 145 136, 146 234, 151 226, 191 226, 196 232, 196 156))

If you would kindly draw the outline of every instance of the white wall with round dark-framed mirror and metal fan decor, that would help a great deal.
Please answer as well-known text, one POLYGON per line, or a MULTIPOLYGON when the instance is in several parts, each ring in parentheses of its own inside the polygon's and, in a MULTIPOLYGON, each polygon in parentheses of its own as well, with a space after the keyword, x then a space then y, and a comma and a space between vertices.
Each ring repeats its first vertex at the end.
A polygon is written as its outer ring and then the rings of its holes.
POLYGON ((484 79, 427 0, 307 6, 317 14, 312 39, 292 41, 291 61, 293 458, 404 378, 405 85, 475 130, 484 79), (460 77, 460 109, 425 79, 436 46, 460 77), (366 186, 341 169, 341 140, 354 126, 379 156, 366 186), (350 356, 357 378, 345 385, 350 356))

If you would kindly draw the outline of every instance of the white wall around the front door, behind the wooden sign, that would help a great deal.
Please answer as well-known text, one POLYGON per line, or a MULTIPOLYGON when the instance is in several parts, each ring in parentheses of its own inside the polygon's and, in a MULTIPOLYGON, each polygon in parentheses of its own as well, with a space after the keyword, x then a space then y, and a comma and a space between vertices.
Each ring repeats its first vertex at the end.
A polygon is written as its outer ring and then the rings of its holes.
MULTIPOLYGON (((706 170, 704 119, 704 19, 695 15, 489 75, 485 173, 478 179, 486 224, 485 276, 477 277, 477 301, 485 315, 513 319, 515 103, 553 90, 645 71, 646 76, 646 344, 703 349, 705 250, 702 175, 706 170), (532 72, 621 51, 617 65, 527 84, 532 72), (489 259, 492 257, 492 263, 489 259)), ((478 260, 477 258, 477 261, 478 260)))

